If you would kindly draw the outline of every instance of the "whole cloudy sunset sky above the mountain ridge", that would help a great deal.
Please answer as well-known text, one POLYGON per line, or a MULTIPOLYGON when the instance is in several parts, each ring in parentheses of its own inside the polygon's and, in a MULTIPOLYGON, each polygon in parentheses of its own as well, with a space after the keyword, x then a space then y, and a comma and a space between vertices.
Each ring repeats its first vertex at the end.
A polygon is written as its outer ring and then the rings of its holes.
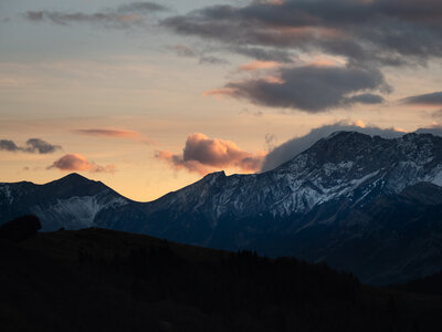
POLYGON ((439 0, 0 0, 0 181, 134 200, 442 124, 439 0))

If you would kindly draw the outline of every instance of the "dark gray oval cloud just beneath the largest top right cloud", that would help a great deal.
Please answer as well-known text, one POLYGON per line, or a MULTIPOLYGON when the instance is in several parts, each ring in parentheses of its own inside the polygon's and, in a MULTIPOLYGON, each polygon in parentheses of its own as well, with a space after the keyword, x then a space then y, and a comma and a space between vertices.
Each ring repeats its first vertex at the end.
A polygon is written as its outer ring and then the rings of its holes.
POLYGON ((381 96, 366 91, 388 92, 389 89, 383 75, 376 70, 306 65, 281 68, 273 76, 231 82, 206 94, 228 95, 257 105, 316 113, 355 103, 380 103, 381 96))

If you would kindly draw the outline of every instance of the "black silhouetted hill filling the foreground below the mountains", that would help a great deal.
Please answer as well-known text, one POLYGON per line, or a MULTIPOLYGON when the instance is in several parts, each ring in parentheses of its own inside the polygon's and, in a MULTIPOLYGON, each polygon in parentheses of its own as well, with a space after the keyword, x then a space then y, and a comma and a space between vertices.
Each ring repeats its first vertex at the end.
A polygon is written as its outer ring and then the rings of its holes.
POLYGON ((0 241, 2 331, 441 331, 442 299, 104 229, 0 241))

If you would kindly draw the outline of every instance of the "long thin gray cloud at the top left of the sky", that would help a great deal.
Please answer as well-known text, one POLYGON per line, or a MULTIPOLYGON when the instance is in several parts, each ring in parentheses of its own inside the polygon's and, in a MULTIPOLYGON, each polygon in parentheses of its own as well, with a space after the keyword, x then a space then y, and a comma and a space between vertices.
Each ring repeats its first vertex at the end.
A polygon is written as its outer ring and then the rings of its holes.
POLYGON ((102 12, 28 11, 24 18, 33 22, 48 21, 60 25, 91 23, 112 29, 127 29, 146 23, 146 15, 167 11, 168 8, 154 2, 133 2, 102 12))

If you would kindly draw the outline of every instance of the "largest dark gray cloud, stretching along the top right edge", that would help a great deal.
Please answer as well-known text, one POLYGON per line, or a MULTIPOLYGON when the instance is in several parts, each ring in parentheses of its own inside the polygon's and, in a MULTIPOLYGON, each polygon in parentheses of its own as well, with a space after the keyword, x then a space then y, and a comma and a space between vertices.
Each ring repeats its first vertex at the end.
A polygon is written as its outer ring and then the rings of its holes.
POLYGON ((317 50, 356 63, 399 65, 442 56, 440 0, 252 1, 206 7, 161 23, 233 48, 317 50))

